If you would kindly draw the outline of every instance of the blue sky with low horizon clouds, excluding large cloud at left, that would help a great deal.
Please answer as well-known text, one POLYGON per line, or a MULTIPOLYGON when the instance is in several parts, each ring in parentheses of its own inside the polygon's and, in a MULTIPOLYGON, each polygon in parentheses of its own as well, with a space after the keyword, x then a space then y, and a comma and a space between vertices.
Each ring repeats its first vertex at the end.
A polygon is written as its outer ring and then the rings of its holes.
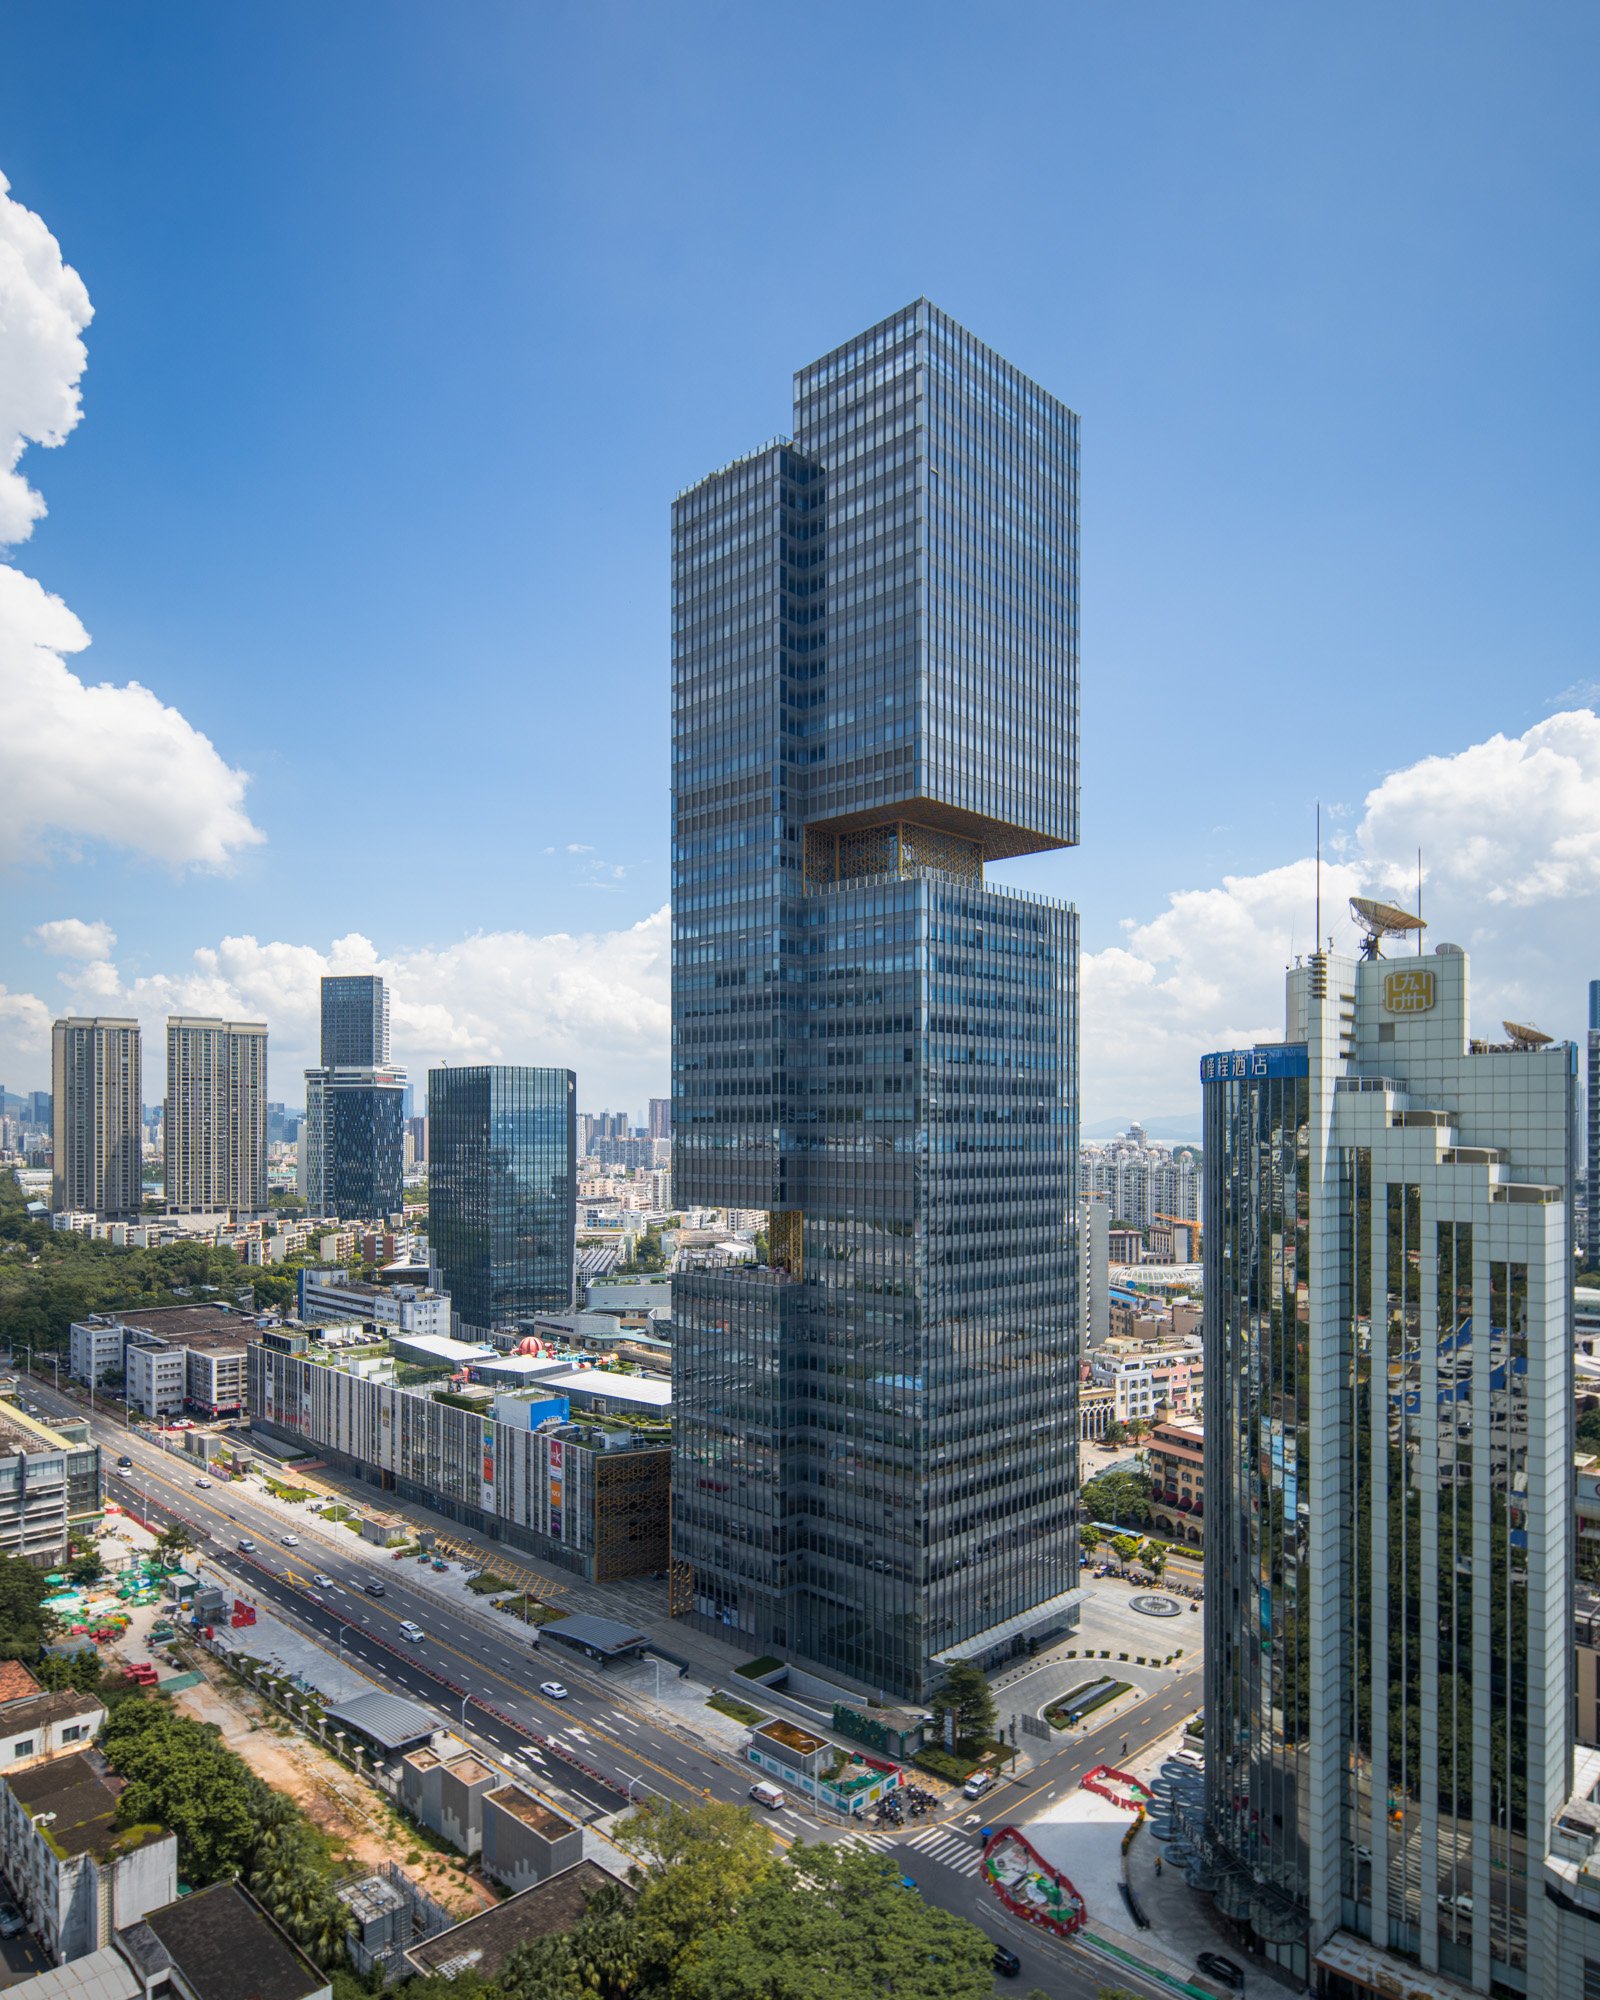
POLYGON ((1430 896, 1506 1004, 1582 1026, 1552 936, 1596 892, 1600 748, 1546 718, 1600 678, 1592 8, 22 0, 6 42, 0 172, 94 302, 10 560, 264 834, 174 866, 138 804, 92 838, 40 808, 0 878, 12 1090, 50 1012, 204 988, 276 1004, 292 1098, 352 932, 418 1066, 582 1048, 584 1102, 666 1088, 632 926, 666 900, 668 504, 924 292, 1084 418, 1084 842, 1010 872, 1080 904, 1102 1006, 1124 982, 1098 1036, 1086 972, 1086 1118, 1182 1110, 1206 1038, 1270 1030, 1318 796, 1376 880, 1508 784, 1430 896), (1530 848, 1550 758, 1572 824, 1530 848), (1488 926, 1482 868, 1530 884, 1488 926), (1238 970, 1204 964, 1236 918, 1238 970))

